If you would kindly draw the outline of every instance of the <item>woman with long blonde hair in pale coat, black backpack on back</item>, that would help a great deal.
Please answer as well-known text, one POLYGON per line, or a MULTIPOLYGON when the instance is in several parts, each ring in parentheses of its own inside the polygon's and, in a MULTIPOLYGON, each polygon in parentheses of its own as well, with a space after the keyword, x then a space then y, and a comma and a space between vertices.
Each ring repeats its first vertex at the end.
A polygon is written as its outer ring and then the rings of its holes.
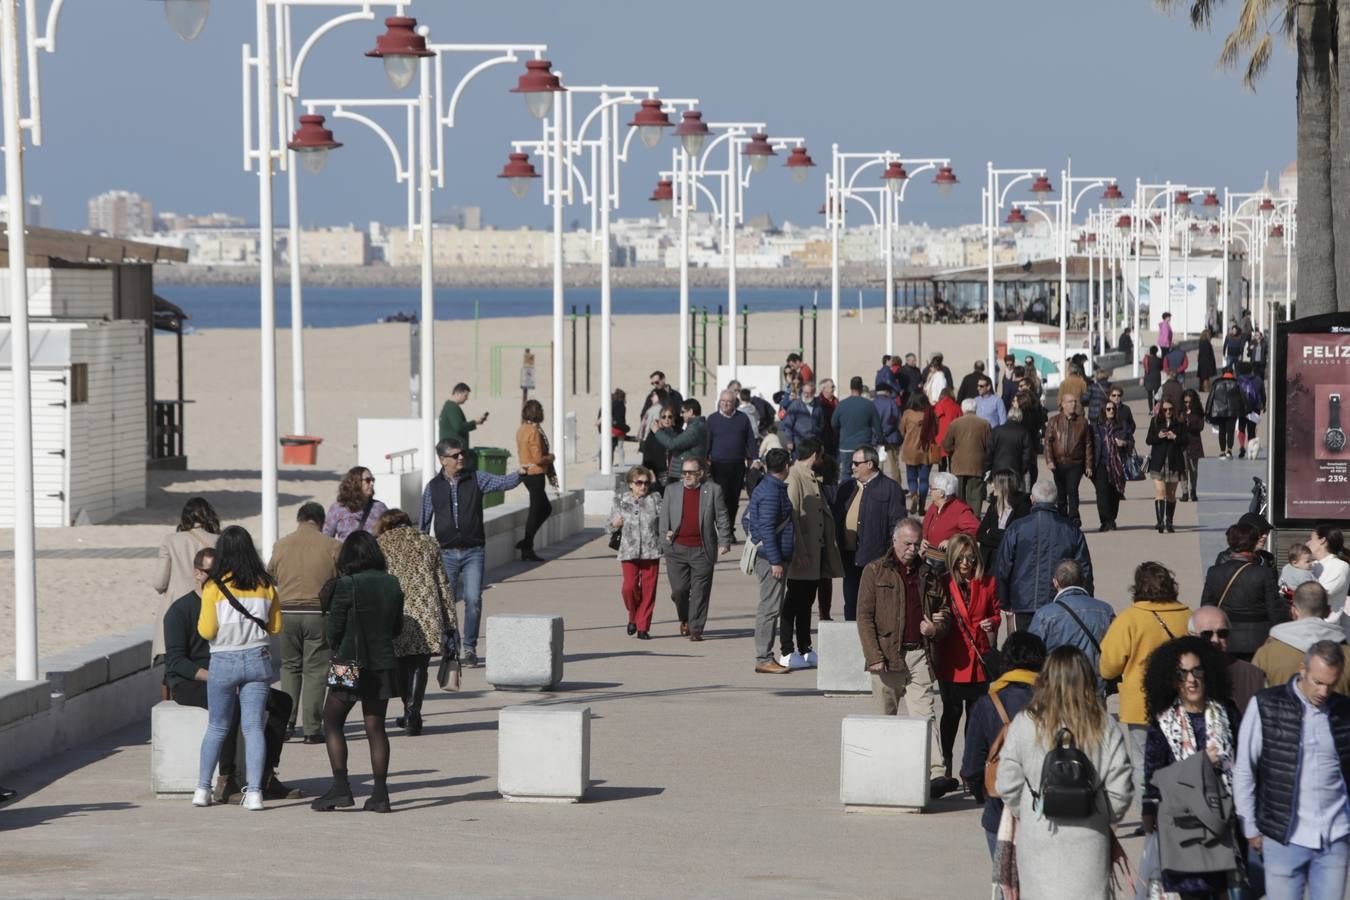
MULTIPOLYGON (((998 781, 1006 812, 1015 820, 1017 870, 1022 896, 1037 900, 1107 900, 1112 891, 1115 838, 1111 826, 1134 800, 1125 738, 1106 712, 1096 675, 1076 646, 1050 653, 1035 679, 1031 700, 1008 726, 999 754, 998 781), (1041 806, 1045 757, 1072 745, 1088 760, 1094 785, 1085 818, 1048 816, 1041 806), (1064 865, 1072 860, 1073 865, 1064 865)), ((1002 828, 1000 828, 1002 831, 1002 828)))

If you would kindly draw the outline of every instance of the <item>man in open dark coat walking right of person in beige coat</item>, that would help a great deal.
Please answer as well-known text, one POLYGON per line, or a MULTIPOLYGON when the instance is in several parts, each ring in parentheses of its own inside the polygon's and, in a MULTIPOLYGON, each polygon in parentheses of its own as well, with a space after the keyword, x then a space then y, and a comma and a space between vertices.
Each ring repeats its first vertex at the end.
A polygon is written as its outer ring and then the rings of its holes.
POLYGON ((882 475, 875 447, 853 451, 853 476, 834 493, 834 530, 844 561, 844 618, 857 618, 863 568, 891 549, 891 532, 905 518, 905 488, 882 475))

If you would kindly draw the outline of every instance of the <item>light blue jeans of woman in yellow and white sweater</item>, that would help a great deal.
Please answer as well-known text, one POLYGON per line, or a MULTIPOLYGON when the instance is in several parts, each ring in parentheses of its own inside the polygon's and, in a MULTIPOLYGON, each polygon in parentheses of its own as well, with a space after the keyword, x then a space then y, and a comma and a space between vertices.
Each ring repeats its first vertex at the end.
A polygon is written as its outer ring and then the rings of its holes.
POLYGON ((239 712, 244 735, 246 791, 262 791, 262 770, 267 762, 263 718, 267 715, 267 685, 275 677, 271 650, 227 650, 211 654, 207 677, 207 733, 201 738, 197 787, 211 788, 211 776, 220 758, 220 745, 239 712))

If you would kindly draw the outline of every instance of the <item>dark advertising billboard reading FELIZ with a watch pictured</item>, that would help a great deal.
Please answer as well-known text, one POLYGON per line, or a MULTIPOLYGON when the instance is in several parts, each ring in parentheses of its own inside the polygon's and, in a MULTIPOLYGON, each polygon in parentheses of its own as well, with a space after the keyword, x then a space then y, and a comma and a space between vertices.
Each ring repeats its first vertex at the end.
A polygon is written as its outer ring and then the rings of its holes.
POLYGON ((1272 393, 1276 525, 1350 522, 1350 314, 1288 322, 1277 332, 1272 393))

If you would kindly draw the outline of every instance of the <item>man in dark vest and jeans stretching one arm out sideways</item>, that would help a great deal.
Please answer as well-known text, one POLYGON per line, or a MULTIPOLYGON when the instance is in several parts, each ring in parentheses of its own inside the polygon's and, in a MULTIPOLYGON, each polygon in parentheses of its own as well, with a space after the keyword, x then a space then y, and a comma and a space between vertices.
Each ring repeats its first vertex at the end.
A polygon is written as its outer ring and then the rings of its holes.
POLYGON ((463 634, 459 660, 478 665, 478 622, 483 606, 483 564, 486 532, 483 529, 483 495, 509 491, 520 484, 525 470, 510 475, 491 475, 466 466, 467 447, 456 437, 436 444, 440 472, 423 490, 418 524, 423 533, 440 544, 446 578, 455 588, 455 598, 464 602, 463 634))

